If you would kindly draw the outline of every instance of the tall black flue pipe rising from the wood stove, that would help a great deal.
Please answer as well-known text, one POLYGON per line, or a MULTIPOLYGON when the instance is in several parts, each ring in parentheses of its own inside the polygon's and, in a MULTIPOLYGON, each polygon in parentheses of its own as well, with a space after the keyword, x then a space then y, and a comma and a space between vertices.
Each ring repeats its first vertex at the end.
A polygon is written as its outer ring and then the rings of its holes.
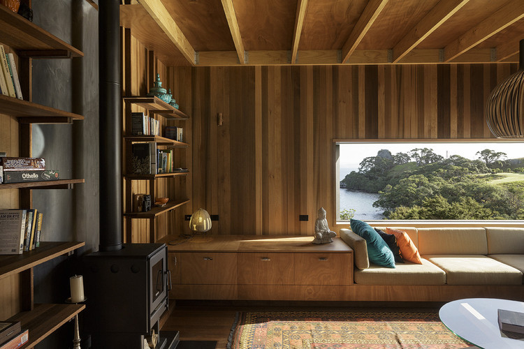
POLYGON ((122 96, 119 0, 99 1, 99 251, 122 248, 122 96))

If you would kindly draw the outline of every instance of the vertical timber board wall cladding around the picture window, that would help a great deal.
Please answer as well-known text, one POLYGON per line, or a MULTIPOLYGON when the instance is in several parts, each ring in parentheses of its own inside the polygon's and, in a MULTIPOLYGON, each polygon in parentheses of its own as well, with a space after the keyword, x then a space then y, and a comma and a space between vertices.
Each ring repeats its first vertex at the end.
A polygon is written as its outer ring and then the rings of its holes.
POLYGON ((333 228, 333 139, 492 138, 484 105, 517 68, 168 67, 191 105, 192 208, 219 214, 215 234, 312 235, 319 207, 333 228))

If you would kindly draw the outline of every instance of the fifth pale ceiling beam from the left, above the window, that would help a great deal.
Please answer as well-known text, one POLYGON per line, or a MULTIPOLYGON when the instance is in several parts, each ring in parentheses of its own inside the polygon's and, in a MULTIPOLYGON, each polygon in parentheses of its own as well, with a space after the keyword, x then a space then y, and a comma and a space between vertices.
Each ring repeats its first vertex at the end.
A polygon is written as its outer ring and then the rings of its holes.
POLYGON ((409 33, 393 47, 393 63, 397 63, 425 38, 437 30, 470 0, 441 0, 409 33))

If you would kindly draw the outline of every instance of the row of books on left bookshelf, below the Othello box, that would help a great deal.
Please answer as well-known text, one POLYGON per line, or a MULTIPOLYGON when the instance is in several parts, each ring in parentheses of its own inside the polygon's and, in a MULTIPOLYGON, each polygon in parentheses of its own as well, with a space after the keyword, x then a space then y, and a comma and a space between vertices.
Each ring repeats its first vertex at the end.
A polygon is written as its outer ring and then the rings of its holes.
POLYGON ((40 247, 42 221, 38 209, 1 209, 0 255, 20 255, 40 247))

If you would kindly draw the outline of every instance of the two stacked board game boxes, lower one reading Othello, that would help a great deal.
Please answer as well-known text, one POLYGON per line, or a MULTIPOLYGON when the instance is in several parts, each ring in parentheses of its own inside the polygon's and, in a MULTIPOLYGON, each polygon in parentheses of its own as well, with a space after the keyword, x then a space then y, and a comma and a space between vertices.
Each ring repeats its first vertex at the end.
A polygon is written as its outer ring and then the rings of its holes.
POLYGON ((0 173, 0 184, 59 179, 57 170, 45 170, 44 158, 0 157, 0 173))

